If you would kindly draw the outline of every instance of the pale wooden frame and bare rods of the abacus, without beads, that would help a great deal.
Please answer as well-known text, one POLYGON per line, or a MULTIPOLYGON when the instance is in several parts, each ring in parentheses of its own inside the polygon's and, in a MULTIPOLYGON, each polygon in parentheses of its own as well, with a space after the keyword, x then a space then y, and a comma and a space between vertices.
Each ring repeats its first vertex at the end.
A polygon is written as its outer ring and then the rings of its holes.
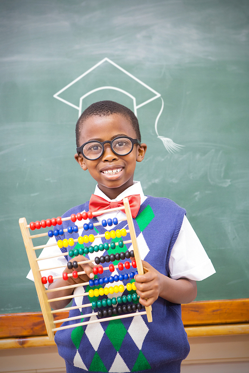
MULTIPOLYGON (((132 246, 133 246, 133 252, 134 252, 137 272, 138 272, 139 275, 143 275, 144 274, 144 269, 143 269, 140 254, 139 254, 139 249, 138 249, 138 245, 137 245, 136 234, 135 234, 135 229, 134 229, 134 224, 133 224, 133 220, 132 220, 132 216, 131 216, 131 212, 130 212, 130 206, 129 206, 128 199, 124 198, 123 202, 124 202, 124 207, 112 208, 108 211, 112 211, 112 210, 113 211, 114 210, 124 210, 125 211, 126 220, 127 220, 127 224, 128 224, 128 228, 129 228, 130 239, 131 239, 131 243, 132 243, 132 246)), ((93 212, 93 216, 100 215, 101 212, 102 213, 106 212, 106 210, 105 211, 93 212)), ((39 299, 39 302, 40 302, 42 315, 43 315, 43 318, 44 318, 44 322, 45 322, 45 325, 46 325, 48 337, 49 337, 50 340, 54 339, 54 332, 56 332, 57 330, 73 328, 73 327, 76 327, 76 326, 82 326, 82 325, 92 324, 92 323, 96 323, 96 322, 104 322, 104 321, 110 321, 110 320, 114 320, 114 319, 133 317, 133 316, 136 316, 136 315, 144 315, 144 314, 147 315, 148 322, 152 321, 151 306, 149 306, 149 307, 145 307, 145 311, 132 312, 132 313, 128 313, 128 314, 124 314, 124 315, 118 315, 118 316, 110 316, 110 317, 107 317, 107 318, 100 318, 100 319, 97 319, 97 320, 76 323, 76 324, 72 324, 72 325, 68 325, 68 326, 64 326, 64 327, 56 327, 56 324, 58 322, 64 322, 68 319, 61 319, 61 320, 56 320, 55 321, 54 317, 53 317, 53 313, 58 313, 58 312, 65 311, 65 308, 59 309, 59 310, 52 310, 51 309, 51 306, 50 306, 51 300, 49 301, 49 299, 47 297, 47 292, 48 291, 56 291, 56 290, 46 290, 44 284, 41 282, 41 270, 39 269, 39 266, 38 266, 38 260, 39 259, 36 257, 36 254, 35 254, 35 250, 43 248, 46 245, 34 247, 33 242, 32 242, 32 239, 47 236, 47 234, 46 233, 45 234, 41 233, 41 234, 36 234, 36 235, 31 236, 30 232, 29 232, 29 225, 27 224, 27 221, 26 221, 25 218, 20 218, 19 219, 19 225, 20 225, 20 229, 21 229, 23 242, 24 242, 24 245, 25 245, 25 248, 26 248, 26 253, 27 253, 29 265, 30 265, 30 268, 31 268, 32 273, 33 273, 35 288, 36 288, 38 299, 39 299)), ((42 258, 42 259, 44 260, 44 259, 47 259, 47 258, 42 258)), ((44 271, 44 269, 43 269, 43 271, 44 271)), ((80 284, 80 285, 83 285, 83 284, 80 284)), ((78 286, 79 286, 79 284, 78 284, 78 286)), ((70 285, 70 287, 72 287, 72 288, 77 287, 77 285, 70 285)), ((60 290, 61 289, 63 289, 63 287, 61 287, 60 290)), ((74 295, 69 296, 69 297, 73 298, 74 295)), ((56 300, 61 300, 61 299, 66 299, 66 298, 68 298, 68 297, 55 298, 55 299, 56 300)), ((80 308, 80 307, 71 307, 71 309, 72 308, 80 308)), ((70 309, 70 307, 67 308, 67 309, 70 309)), ((84 316, 85 317, 91 317, 93 315, 95 315, 95 313, 91 313, 91 314, 87 314, 87 315, 81 315, 80 317, 81 318, 84 317, 84 316)), ((73 319, 75 319, 75 318, 73 318, 73 319)))

